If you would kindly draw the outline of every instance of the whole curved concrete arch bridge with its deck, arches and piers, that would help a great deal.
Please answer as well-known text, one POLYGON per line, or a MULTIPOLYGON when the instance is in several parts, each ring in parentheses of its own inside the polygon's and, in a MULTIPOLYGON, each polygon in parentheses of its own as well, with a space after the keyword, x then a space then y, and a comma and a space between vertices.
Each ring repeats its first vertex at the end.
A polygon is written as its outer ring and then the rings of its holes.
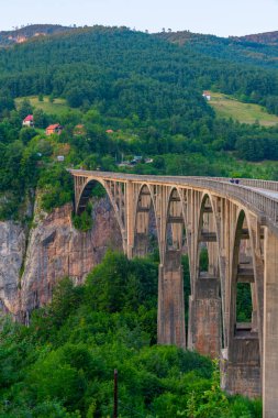
POLYGON ((157 341, 219 358, 222 387, 263 395, 264 417, 278 411, 278 183, 222 177, 140 176, 69 169, 81 213, 96 183, 111 201, 129 257, 159 249, 157 341), (151 215, 151 213, 154 213, 151 215), (209 263, 202 271, 200 252, 209 263), (190 268, 185 321, 181 254, 190 268), (251 289, 252 317, 238 322, 238 284, 251 289), (188 334, 186 336, 186 329, 188 334))

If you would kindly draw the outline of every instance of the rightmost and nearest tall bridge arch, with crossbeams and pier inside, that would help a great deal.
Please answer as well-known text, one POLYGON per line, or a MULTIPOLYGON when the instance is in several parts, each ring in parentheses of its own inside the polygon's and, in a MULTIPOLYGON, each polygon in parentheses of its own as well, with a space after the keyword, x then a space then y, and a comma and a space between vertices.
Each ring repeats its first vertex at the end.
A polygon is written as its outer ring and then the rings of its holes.
POLYGON ((230 279, 230 319, 227 330, 226 387, 231 393, 245 396, 259 396, 260 350, 257 328, 257 294, 255 288, 256 260, 254 256, 253 233, 248 210, 238 207, 234 229, 232 270, 230 279), (242 321, 237 316, 240 292, 249 290, 249 317, 242 321), (241 369, 241 376, 236 371, 241 369))

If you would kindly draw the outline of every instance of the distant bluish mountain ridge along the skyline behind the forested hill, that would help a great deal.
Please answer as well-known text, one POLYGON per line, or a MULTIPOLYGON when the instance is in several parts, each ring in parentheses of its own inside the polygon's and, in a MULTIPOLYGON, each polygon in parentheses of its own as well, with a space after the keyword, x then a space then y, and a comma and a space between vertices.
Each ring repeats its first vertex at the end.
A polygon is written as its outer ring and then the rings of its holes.
MULTIPOLYGON (((230 62, 231 64, 244 64, 256 67, 277 68, 278 67, 278 31, 246 36, 220 37, 210 34, 192 33, 190 31, 173 32, 171 30, 158 33, 144 33, 131 30, 126 26, 63 26, 52 24, 35 24, 14 31, 0 32, 0 48, 10 48, 18 44, 29 42, 43 42, 44 38, 54 40, 76 34, 89 34, 90 32, 121 32, 137 33, 149 36, 153 40, 175 44, 187 50, 202 54, 202 59, 218 59, 230 62), (277 40, 277 41, 276 41, 277 40), (265 43, 264 43, 265 42, 265 43), (205 58, 208 57, 208 58, 205 58)), ((200 58, 201 59, 201 58, 200 58)))

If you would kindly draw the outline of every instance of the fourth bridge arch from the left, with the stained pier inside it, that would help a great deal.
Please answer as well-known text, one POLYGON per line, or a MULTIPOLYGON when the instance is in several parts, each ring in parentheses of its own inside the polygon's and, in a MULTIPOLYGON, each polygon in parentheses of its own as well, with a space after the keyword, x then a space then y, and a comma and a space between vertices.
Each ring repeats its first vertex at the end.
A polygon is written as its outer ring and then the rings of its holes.
POLYGON ((219 358, 223 340, 222 299, 220 280, 220 245, 212 197, 200 196, 199 213, 193 244, 194 264, 191 268, 189 302, 189 348, 201 354, 219 358), (207 249, 207 266, 201 253, 207 249))

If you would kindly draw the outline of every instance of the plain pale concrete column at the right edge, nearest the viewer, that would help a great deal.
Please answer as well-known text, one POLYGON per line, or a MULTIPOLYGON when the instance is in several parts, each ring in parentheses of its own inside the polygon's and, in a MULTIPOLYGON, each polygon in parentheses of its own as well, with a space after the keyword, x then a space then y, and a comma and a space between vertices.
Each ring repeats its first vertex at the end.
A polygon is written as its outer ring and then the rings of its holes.
POLYGON ((278 238, 265 234, 263 406, 264 418, 278 411, 278 238))

